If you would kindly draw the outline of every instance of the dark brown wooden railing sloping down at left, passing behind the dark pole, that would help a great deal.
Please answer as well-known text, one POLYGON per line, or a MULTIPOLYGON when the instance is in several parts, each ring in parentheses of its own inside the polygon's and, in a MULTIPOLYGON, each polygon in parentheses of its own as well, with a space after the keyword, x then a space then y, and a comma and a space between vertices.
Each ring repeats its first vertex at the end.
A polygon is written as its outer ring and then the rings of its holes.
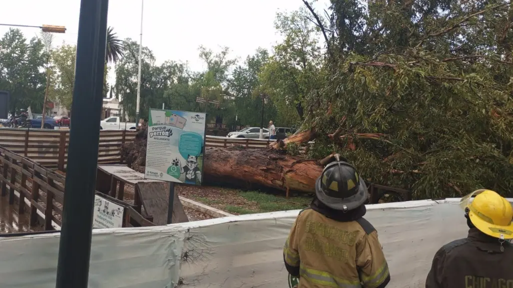
MULTIPOLYGON (((60 228, 65 176, 2 147, 0 147, 0 167, 2 168, 1 197, 8 198, 11 213, 17 212, 18 219, 22 218, 20 216, 23 214, 29 213, 30 230, 48 231, 60 228)), ((133 205, 110 198, 100 192, 96 193, 125 208, 124 227, 128 223, 131 226, 153 225, 137 213, 133 205)))

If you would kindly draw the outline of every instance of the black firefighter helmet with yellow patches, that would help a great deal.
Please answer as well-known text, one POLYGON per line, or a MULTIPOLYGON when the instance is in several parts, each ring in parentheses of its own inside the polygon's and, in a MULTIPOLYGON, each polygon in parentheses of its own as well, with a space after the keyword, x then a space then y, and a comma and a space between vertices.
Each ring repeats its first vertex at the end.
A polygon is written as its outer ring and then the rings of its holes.
POLYGON ((344 212, 360 207, 369 197, 364 180, 345 161, 326 165, 315 181, 315 194, 329 208, 344 212))

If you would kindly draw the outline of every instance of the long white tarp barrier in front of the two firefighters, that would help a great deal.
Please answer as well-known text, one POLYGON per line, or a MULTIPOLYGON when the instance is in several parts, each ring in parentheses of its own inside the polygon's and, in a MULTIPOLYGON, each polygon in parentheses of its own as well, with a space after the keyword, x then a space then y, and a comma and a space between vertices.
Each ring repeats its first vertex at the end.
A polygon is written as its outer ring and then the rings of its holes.
MULTIPOLYGON (((365 218, 388 260, 389 287, 424 287, 436 251, 466 237, 458 201, 367 206, 365 218)), ((288 287, 282 248, 298 212, 94 230, 89 287, 288 287)), ((54 288, 58 241, 58 234, 0 238, 0 287, 54 288)))

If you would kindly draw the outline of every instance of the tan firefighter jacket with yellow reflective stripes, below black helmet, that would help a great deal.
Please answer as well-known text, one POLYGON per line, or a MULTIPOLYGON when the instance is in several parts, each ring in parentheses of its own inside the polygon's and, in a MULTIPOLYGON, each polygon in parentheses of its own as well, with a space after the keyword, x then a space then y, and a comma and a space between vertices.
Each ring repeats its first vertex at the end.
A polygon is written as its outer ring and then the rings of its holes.
POLYGON ((287 271, 300 277, 298 288, 382 288, 388 265, 374 227, 358 211, 330 211, 314 199, 295 220, 283 254, 287 271))

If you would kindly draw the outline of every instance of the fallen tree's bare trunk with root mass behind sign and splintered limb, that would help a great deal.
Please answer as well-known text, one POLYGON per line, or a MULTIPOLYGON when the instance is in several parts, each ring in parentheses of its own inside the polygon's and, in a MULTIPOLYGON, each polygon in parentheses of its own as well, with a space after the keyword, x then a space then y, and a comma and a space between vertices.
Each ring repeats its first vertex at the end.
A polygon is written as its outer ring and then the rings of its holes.
MULTIPOLYGON (((133 141, 121 149, 122 161, 133 170, 144 173, 146 166, 146 129, 143 125, 133 141)), ((300 132, 291 136, 292 142, 303 142, 314 131, 300 132)), ((285 139, 286 142, 290 141, 285 139)), ((280 149, 242 149, 240 147, 206 147, 203 159, 203 182, 219 183, 240 188, 272 188, 281 191, 313 193, 315 180, 323 166, 315 159, 305 159, 285 154, 280 149)))

